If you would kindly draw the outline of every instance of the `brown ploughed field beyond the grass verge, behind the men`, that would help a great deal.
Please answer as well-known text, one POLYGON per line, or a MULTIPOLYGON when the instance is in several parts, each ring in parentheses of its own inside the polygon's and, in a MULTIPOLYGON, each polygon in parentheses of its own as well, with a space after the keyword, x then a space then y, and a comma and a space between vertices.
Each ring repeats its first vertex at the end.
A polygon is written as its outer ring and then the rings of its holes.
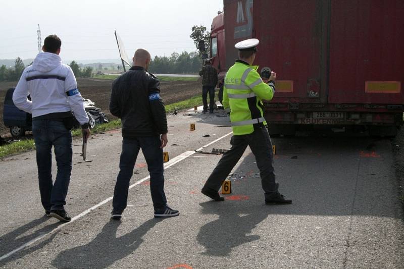
MULTIPOLYGON (((112 80, 79 78, 77 79, 77 84, 83 98, 95 102, 95 105, 107 115, 109 120, 116 119, 108 109, 112 80)), ((17 82, 0 82, 0 135, 6 138, 11 137, 11 135, 9 128, 3 124, 4 98, 7 89, 16 85, 17 82)), ((165 104, 186 100, 202 93, 202 86, 199 81, 161 81, 160 88, 160 96, 165 104)), ((26 135, 31 134, 27 132, 26 135)))

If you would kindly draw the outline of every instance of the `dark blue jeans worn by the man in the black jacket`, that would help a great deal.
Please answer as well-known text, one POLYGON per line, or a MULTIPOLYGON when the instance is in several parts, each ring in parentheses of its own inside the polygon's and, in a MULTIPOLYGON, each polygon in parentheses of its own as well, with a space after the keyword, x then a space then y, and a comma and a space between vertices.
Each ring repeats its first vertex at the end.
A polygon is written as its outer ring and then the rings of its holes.
POLYGON ((159 136, 138 137, 136 139, 123 138, 122 153, 119 163, 119 174, 115 184, 113 210, 123 212, 128 200, 129 181, 133 175, 137 154, 142 149, 146 159, 147 169, 150 174, 150 193, 155 210, 165 207, 167 204, 164 193, 163 176, 163 149, 160 148, 159 136))

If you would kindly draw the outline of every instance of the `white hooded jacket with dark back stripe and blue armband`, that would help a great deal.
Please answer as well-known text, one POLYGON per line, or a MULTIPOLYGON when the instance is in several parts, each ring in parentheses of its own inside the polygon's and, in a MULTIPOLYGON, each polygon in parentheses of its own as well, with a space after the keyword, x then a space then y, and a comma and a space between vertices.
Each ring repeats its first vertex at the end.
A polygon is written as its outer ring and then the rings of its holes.
POLYGON ((73 111, 81 125, 88 123, 73 71, 55 53, 42 52, 36 56, 22 73, 13 101, 20 110, 31 113, 32 118, 73 111))

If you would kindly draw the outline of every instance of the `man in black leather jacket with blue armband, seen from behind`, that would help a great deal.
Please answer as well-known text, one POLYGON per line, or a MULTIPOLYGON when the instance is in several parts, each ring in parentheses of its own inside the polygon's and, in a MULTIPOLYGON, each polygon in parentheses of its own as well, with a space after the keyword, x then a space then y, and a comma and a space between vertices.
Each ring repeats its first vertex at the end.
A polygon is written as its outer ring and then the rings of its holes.
POLYGON ((163 147, 167 145, 167 117, 160 98, 160 82, 147 72, 150 53, 137 49, 133 66, 114 80, 110 101, 111 114, 122 121, 122 153, 115 184, 111 218, 119 220, 126 208, 129 181, 137 154, 142 149, 150 173, 150 192, 155 217, 178 216, 167 205, 164 193, 163 147))

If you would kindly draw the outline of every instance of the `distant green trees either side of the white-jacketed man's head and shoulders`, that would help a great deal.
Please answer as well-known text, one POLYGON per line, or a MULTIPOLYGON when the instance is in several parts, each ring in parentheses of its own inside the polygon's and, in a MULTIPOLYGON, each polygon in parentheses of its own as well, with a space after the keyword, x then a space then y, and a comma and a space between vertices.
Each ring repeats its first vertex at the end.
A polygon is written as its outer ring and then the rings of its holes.
MULTIPOLYGON (((28 65, 32 65, 32 62, 28 65)), ((80 68, 79 65, 72 61, 69 65, 76 78, 88 78, 91 77, 92 67, 80 68)), ((7 68, 5 65, 0 67, 0 81, 18 81, 21 77, 22 72, 25 69, 25 65, 20 57, 14 62, 14 67, 7 68)))

